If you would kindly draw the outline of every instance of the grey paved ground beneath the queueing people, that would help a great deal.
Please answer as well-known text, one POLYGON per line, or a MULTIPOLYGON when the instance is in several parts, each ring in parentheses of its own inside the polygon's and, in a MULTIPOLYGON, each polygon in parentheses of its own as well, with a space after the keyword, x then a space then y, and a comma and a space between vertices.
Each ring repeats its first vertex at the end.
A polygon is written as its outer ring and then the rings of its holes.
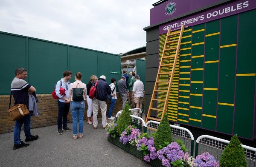
MULTIPOLYGON (((72 128, 72 123, 68 124, 72 128)), ((114 144, 107 141, 106 130, 84 122, 84 136, 74 140, 73 132, 57 133, 57 125, 35 128, 39 135, 28 147, 12 150, 13 133, 0 134, 0 167, 148 167, 114 144)), ((25 140, 21 131, 21 139, 25 140)))

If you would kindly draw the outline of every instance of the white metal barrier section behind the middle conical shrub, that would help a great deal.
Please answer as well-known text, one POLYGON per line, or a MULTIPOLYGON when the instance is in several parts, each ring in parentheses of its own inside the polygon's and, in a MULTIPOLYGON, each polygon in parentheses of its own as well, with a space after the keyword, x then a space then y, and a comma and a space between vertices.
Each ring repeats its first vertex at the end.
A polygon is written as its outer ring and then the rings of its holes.
MULTIPOLYGON (((145 124, 143 132, 147 132, 148 135, 150 135, 152 132, 157 131, 157 127, 159 126, 160 122, 157 121, 148 121, 145 124)), ((178 139, 186 146, 188 146, 190 149, 190 155, 194 155, 194 136, 193 134, 186 128, 184 127, 179 127, 175 125, 170 125, 172 129, 172 139, 175 141, 175 139, 178 139)))

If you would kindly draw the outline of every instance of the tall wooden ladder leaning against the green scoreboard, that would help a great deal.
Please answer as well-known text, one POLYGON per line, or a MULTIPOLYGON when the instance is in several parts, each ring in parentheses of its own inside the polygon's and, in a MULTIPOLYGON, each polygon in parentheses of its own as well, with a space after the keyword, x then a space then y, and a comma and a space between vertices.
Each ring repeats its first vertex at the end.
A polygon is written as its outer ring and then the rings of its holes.
POLYGON ((172 80, 175 73, 175 66, 180 52, 180 42, 183 30, 184 25, 182 25, 178 31, 171 32, 171 30, 168 29, 162 57, 157 72, 157 79, 148 108, 146 122, 149 120, 160 122, 167 110, 168 99, 172 87, 172 80), (153 108, 153 105, 157 106, 157 108, 153 108), (151 117, 151 110, 162 113, 160 114, 162 115, 161 118, 151 117))

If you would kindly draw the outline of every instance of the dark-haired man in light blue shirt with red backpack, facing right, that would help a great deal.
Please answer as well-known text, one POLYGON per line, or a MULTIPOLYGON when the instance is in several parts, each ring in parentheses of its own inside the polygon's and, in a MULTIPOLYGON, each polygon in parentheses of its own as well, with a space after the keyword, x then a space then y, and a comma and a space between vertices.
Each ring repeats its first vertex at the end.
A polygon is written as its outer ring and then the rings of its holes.
POLYGON ((63 131, 71 131, 70 128, 67 127, 67 114, 70 109, 70 99, 68 99, 69 93, 68 90, 70 88, 70 79, 71 79, 71 71, 64 71, 63 78, 57 82, 55 92, 56 95, 60 98, 58 99, 58 117, 57 117, 57 124, 58 124, 58 134, 62 135, 63 131), (60 88, 65 89, 66 95, 62 96, 60 93, 60 88))

